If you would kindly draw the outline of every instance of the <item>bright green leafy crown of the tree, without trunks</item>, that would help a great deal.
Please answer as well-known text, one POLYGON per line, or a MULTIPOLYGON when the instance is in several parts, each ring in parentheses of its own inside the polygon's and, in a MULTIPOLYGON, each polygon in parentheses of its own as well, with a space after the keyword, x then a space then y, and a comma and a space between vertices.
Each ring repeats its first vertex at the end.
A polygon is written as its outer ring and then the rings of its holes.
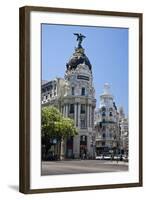
POLYGON ((64 138, 76 134, 77 130, 72 119, 63 117, 53 106, 42 108, 42 136, 64 138))

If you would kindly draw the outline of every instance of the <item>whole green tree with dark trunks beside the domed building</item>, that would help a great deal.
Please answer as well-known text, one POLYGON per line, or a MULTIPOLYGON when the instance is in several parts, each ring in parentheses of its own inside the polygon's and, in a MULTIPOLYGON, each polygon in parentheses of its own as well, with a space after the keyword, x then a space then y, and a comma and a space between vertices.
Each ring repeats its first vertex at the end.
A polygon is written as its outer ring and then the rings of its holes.
MULTIPOLYGON (((51 148, 53 139, 58 141, 59 153, 61 152, 61 142, 68 136, 78 134, 74 121, 70 118, 63 117, 59 110, 53 106, 42 108, 42 145, 45 145, 44 155, 46 157, 48 150, 51 148)), ((60 155, 59 155, 60 157, 60 155)))

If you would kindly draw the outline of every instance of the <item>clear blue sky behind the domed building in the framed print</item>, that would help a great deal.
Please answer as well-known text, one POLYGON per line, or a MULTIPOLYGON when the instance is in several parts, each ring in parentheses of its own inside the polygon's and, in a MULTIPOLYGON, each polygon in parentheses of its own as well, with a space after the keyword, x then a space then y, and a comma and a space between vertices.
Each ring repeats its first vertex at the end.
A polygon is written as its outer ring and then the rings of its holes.
POLYGON ((76 37, 86 36, 82 46, 92 64, 97 107, 104 83, 111 85, 117 106, 128 113, 128 29, 70 25, 42 25, 42 80, 64 77, 76 37))

